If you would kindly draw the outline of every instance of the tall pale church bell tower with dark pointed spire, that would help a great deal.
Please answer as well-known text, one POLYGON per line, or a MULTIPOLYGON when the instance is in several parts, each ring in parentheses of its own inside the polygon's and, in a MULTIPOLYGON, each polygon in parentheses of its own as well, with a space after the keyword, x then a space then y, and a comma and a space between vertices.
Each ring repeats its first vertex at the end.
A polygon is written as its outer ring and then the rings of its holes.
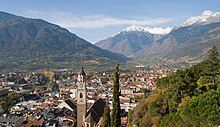
POLYGON ((78 81, 77 81, 77 127, 84 126, 84 119, 86 115, 86 100, 87 100, 87 92, 86 92, 86 73, 81 68, 78 81))

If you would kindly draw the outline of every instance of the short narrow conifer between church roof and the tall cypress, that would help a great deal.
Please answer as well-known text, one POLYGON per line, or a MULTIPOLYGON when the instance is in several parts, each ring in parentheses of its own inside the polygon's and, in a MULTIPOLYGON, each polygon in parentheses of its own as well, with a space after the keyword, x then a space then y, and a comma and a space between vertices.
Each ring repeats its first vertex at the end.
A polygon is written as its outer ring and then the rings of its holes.
POLYGON ((110 127, 110 125, 111 125, 110 123, 111 123, 110 109, 108 107, 108 100, 106 100, 103 121, 102 121, 102 127, 110 127))

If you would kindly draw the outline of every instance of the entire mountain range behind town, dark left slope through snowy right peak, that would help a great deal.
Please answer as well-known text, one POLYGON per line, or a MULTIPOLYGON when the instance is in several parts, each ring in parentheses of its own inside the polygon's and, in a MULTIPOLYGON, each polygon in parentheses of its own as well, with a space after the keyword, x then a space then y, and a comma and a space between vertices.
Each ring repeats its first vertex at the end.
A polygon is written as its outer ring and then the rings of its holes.
POLYGON ((132 25, 95 45, 42 19, 0 12, 0 71, 77 68, 82 62, 97 68, 128 57, 204 58, 214 44, 220 49, 220 12, 204 11, 173 28, 132 25))

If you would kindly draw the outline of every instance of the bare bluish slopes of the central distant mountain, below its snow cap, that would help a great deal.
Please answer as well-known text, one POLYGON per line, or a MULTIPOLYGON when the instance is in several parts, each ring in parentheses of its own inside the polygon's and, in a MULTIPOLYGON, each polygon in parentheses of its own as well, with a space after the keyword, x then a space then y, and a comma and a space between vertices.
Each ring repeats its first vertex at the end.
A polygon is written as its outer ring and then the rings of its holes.
POLYGON ((121 53, 128 57, 152 44, 154 36, 144 31, 121 31, 120 33, 95 43, 96 46, 121 53))

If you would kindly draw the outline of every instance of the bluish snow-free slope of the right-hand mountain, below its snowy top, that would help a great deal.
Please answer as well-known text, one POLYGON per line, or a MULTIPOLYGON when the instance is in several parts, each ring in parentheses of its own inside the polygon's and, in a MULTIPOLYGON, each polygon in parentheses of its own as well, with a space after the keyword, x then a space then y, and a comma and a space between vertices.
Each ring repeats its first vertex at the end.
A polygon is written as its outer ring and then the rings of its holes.
MULTIPOLYGON (((171 31, 165 37, 156 41, 153 46, 158 46, 158 54, 167 58, 178 58, 181 56, 203 56, 207 48, 217 45, 220 41, 220 22, 211 24, 190 25, 171 31), (213 32, 215 31, 215 32, 213 32), (166 45, 166 46, 165 46, 166 45)), ((155 51, 155 47, 151 47, 155 51)), ((154 52, 155 53, 155 52, 154 52)))

